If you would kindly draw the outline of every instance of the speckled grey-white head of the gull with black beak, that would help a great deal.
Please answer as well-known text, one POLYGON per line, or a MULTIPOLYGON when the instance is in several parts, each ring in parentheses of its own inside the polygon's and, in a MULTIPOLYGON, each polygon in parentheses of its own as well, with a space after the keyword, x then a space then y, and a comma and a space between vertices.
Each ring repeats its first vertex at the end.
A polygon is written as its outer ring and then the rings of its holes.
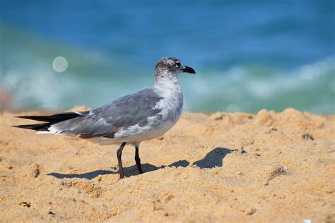
POLYGON ((184 66, 179 59, 172 56, 165 56, 155 66, 155 77, 177 76, 180 73, 195 73, 193 68, 184 66))

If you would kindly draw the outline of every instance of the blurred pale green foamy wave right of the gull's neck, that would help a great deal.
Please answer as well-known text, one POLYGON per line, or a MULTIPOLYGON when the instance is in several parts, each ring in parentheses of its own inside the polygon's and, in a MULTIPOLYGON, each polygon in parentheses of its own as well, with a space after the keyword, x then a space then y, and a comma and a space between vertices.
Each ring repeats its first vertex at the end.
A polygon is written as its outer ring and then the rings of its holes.
POLYGON ((290 71, 261 66, 234 66, 227 71, 201 71, 183 78, 186 109, 248 111, 293 107, 319 114, 335 113, 335 57, 290 71))

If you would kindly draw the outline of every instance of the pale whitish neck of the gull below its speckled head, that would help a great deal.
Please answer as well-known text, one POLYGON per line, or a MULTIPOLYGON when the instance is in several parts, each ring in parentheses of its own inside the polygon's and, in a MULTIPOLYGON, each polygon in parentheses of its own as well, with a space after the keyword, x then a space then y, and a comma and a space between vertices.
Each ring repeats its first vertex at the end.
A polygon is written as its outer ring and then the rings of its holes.
POLYGON ((160 75, 155 77, 155 87, 165 96, 182 95, 177 76, 160 75))

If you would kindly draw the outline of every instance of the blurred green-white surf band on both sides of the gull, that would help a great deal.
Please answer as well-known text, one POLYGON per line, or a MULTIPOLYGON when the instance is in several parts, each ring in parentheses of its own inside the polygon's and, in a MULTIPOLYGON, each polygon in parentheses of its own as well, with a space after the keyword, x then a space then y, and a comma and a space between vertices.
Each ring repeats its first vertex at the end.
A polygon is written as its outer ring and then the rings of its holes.
MULTIPOLYGON (((0 31, 2 109, 98 107, 153 85, 152 69, 129 66, 117 56, 74 49, 11 28, 0 31), (54 70, 59 56, 68 63, 63 73, 54 70)), ((293 69, 263 64, 225 70, 202 67, 196 68, 196 76, 180 76, 186 110, 257 112, 293 107, 335 113, 335 56, 293 69)))

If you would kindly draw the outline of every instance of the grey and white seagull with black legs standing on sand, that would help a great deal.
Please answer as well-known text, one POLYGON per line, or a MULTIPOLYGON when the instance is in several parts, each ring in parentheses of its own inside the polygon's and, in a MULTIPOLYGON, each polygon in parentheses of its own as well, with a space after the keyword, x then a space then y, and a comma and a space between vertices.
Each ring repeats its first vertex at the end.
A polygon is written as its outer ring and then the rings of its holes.
POLYGON ((163 135, 182 114, 180 73, 196 73, 179 59, 166 56, 158 61, 153 76, 155 85, 89 111, 64 112, 49 116, 16 116, 43 123, 14 126, 90 140, 100 145, 120 145, 117 150, 119 178, 124 179, 122 150, 128 143, 135 147, 135 162, 143 174, 139 145, 163 135))

